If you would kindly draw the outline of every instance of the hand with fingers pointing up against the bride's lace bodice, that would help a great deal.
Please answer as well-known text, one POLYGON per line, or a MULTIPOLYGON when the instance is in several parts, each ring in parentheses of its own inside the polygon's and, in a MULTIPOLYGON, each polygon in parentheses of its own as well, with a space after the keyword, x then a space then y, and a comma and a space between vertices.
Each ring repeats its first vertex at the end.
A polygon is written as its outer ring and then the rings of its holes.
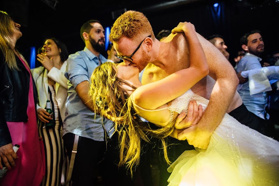
POLYGON ((178 115, 174 124, 175 129, 170 136, 178 139, 178 134, 180 134, 184 129, 196 125, 200 121, 202 115, 202 106, 198 106, 196 101, 190 101, 187 115, 185 112, 178 115))

